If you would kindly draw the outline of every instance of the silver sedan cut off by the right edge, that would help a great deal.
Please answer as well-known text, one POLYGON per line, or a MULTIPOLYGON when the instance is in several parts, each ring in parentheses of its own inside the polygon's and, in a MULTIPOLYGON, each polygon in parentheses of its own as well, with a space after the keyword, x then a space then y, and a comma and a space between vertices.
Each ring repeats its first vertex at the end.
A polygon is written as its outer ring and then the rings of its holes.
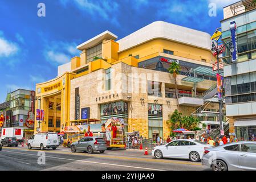
POLYGON ((206 148, 201 161, 214 171, 256 170, 256 142, 234 142, 206 148))

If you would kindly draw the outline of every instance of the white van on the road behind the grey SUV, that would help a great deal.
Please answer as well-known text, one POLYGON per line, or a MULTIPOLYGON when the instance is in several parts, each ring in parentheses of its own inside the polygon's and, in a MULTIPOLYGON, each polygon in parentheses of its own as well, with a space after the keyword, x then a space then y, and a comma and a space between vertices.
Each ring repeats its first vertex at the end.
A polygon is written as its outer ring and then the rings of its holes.
POLYGON ((27 141, 27 148, 52 148, 53 150, 59 147, 59 138, 57 133, 38 133, 33 135, 27 141))

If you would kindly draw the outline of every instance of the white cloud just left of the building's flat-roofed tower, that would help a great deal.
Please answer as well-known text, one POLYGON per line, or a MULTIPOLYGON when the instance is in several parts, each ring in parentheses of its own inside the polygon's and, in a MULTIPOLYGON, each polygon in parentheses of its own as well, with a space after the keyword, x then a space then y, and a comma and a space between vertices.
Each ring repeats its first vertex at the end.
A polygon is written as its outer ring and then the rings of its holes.
POLYGON ((68 63, 70 59, 79 55, 80 51, 76 49, 76 43, 68 42, 50 42, 46 43, 44 48, 44 57, 54 65, 68 63))

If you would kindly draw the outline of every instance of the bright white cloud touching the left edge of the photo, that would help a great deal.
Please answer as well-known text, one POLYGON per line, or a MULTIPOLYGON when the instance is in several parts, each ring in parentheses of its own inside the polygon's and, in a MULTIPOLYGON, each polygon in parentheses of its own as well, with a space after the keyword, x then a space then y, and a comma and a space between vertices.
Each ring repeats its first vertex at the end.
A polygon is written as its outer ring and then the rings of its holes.
POLYGON ((7 40, 3 37, 3 33, 0 36, 0 57, 9 57, 17 54, 19 51, 18 44, 7 40))

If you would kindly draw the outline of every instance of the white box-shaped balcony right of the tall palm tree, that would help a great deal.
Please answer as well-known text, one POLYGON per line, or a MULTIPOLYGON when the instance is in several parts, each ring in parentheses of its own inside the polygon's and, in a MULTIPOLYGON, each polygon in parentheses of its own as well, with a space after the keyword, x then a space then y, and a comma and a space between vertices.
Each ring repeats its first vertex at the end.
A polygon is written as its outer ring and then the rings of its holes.
POLYGON ((192 94, 179 94, 178 104, 180 106, 198 107, 204 105, 204 98, 193 97, 192 94))

